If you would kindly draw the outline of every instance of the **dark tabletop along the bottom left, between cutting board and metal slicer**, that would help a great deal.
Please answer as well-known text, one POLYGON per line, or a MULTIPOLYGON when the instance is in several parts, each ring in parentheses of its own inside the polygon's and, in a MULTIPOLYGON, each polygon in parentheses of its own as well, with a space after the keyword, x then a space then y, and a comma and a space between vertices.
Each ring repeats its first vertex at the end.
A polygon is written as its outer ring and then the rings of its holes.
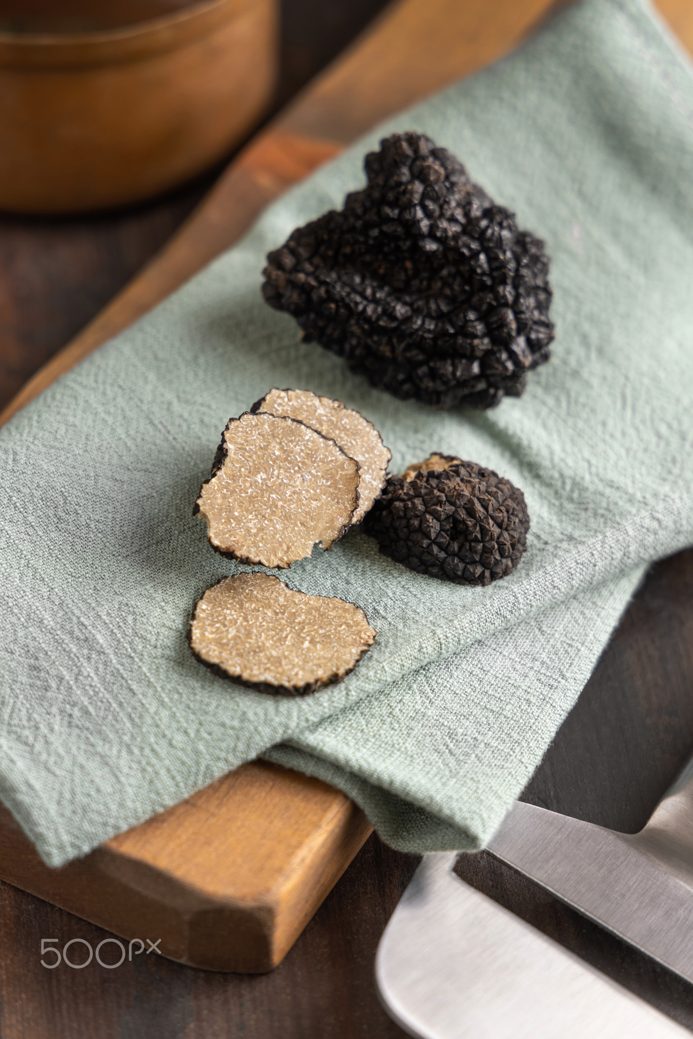
MULTIPOLYGON (((140 954, 113 970, 41 965, 41 939, 108 932, 0 882, 2 1039, 396 1039, 375 950, 418 858, 371 837, 270 975, 220 975, 140 954)), ((111 947, 110 962, 119 957, 111 947)), ((73 945, 74 962, 86 959, 73 945)), ((108 962, 109 951, 102 958, 108 962)))

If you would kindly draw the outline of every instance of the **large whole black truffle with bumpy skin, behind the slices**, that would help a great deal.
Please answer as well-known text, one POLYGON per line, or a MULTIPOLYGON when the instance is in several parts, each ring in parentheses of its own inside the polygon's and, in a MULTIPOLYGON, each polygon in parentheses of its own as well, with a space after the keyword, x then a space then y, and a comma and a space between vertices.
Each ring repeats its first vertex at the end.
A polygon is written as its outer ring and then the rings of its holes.
POLYGON ((384 138, 365 165, 343 210, 268 255, 265 300, 403 400, 518 397, 554 338, 543 243, 423 134, 384 138))

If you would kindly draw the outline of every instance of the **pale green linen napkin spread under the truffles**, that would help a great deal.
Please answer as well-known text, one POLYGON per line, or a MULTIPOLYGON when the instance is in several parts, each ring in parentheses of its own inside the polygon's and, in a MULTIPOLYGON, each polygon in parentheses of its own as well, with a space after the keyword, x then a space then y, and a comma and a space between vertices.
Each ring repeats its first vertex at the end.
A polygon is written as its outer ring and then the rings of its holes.
POLYGON ((369 135, 0 434, 0 797, 58 865, 264 754, 347 791, 398 848, 474 850, 532 774, 647 564, 693 541, 693 82, 637 0, 586 0, 369 135), (364 181, 394 130, 449 148, 553 257, 554 359, 522 399, 438 412, 352 376, 260 297, 268 249, 364 181), (185 641, 218 577, 192 517, 219 433, 268 389, 359 408, 393 471, 459 454, 521 486, 519 567, 414 575, 349 533, 285 572, 376 645, 297 700, 185 641))

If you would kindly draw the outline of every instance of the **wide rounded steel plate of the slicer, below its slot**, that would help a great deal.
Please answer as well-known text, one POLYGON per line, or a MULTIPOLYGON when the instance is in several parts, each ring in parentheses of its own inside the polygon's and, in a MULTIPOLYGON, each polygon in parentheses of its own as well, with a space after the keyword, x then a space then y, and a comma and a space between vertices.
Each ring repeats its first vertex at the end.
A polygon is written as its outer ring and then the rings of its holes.
POLYGON ((683 1039, 690 1032, 427 855, 376 958, 390 1015, 419 1039, 683 1039))

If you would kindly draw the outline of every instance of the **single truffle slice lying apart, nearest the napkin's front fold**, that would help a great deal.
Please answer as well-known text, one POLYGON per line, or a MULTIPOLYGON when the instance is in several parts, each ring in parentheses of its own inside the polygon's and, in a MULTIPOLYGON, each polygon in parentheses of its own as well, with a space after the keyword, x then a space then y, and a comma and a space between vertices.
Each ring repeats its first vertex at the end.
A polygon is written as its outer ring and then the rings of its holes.
POLYGON ((195 605, 189 642, 216 674, 264 693, 303 696, 352 671, 375 641, 364 611, 293 591, 269 574, 238 574, 195 605))

